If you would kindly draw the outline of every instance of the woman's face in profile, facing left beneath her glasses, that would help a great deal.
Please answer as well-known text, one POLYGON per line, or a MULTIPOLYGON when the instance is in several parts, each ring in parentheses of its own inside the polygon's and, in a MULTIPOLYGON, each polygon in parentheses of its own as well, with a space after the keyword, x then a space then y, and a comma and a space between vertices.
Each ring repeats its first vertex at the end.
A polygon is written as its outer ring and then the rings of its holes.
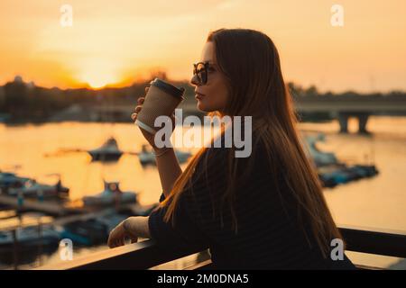
POLYGON ((190 83, 195 85, 195 99, 198 101, 198 109, 204 112, 222 112, 228 99, 226 76, 219 71, 215 46, 211 41, 206 42, 199 60, 199 62, 206 61, 209 63, 208 83, 205 85, 198 83, 196 76, 190 80, 190 83))

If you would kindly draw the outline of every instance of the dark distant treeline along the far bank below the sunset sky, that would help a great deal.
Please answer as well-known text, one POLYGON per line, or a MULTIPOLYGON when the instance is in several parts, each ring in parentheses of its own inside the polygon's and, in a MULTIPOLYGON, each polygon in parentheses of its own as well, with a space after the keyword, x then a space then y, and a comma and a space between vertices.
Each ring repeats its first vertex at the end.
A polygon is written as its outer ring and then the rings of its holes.
MULTIPOLYGON (((159 75, 166 78, 165 74, 159 75)), ((148 81, 141 81, 122 88, 106 87, 100 90, 88 88, 80 89, 60 89, 57 87, 44 88, 37 85, 27 84, 23 79, 16 76, 13 82, 8 82, 0 86, 0 118, 8 116, 9 121, 44 121, 52 114, 68 108, 72 104, 81 106, 91 106, 95 104, 115 105, 115 104, 136 104, 136 99, 145 94, 144 88, 149 85, 148 81)), ((166 79, 168 80, 168 79, 166 79)), ((185 87, 187 101, 194 102, 194 87, 188 81, 172 81, 172 84, 185 87), (188 97, 189 96, 189 97, 188 97)), ((314 97, 314 96, 334 96, 334 97, 406 97, 406 93, 393 91, 389 94, 358 94, 349 91, 342 94, 319 93, 316 86, 303 88, 293 83, 288 84, 293 97, 314 97)))

